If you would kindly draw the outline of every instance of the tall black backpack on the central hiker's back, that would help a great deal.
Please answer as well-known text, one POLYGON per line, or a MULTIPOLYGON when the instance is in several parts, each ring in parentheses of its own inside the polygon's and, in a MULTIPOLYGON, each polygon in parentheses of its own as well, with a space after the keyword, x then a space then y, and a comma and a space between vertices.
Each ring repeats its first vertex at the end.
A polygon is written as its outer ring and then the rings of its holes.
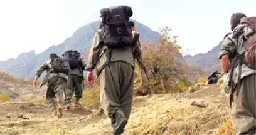
POLYGON ((132 8, 129 6, 113 6, 100 10, 101 36, 103 43, 110 48, 132 46, 132 29, 129 19, 132 8))

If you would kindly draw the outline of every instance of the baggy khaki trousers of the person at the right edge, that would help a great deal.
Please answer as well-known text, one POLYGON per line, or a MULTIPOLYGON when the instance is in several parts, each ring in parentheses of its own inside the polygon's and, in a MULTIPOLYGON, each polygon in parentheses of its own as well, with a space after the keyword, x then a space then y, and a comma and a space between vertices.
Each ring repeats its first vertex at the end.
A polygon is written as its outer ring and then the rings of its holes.
POLYGON ((256 74, 242 78, 233 93, 231 120, 237 135, 256 129, 256 74), (238 91, 238 96, 237 96, 238 91))

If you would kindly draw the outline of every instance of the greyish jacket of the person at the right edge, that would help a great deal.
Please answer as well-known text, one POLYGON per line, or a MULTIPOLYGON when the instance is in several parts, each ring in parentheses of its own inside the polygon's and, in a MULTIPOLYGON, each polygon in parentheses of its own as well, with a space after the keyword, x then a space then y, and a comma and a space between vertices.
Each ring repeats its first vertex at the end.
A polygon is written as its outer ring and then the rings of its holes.
MULTIPOLYGON (((240 27, 237 26, 237 27, 240 27)), ((252 31, 252 29, 247 27, 247 32, 243 36, 247 36, 252 31)), ((242 54, 245 51, 245 48, 243 47, 243 41, 240 41, 239 38, 233 38, 233 34, 229 34, 227 37, 225 37, 223 44, 221 46, 220 53, 218 53, 218 58, 221 59, 221 56, 224 56, 228 54, 229 58, 235 59, 238 54, 242 54)), ((230 69, 229 68, 229 72, 230 69)), ((239 73, 239 67, 235 67, 232 81, 233 83, 237 83, 238 81, 238 73, 239 73)), ((242 70, 241 70, 241 79, 245 76, 248 76, 250 74, 256 73, 256 70, 248 68, 246 64, 242 64, 242 70)))

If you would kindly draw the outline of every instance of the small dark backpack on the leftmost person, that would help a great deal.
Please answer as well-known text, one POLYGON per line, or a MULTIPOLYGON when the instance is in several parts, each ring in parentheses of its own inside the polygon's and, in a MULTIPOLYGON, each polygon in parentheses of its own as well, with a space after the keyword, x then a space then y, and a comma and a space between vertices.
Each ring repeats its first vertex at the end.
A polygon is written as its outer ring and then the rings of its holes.
POLYGON ((64 61, 60 57, 51 58, 51 68, 54 73, 65 73, 65 64, 64 61))

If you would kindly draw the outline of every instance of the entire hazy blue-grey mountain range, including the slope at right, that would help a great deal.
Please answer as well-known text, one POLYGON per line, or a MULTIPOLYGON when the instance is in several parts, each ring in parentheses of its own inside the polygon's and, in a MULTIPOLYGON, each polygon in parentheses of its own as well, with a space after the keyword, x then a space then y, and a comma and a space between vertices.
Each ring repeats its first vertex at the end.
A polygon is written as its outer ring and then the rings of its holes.
MULTIPOLYGON (((80 27, 71 37, 65 39, 61 44, 50 46, 39 54, 31 50, 19 54, 17 58, 9 58, 6 61, 0 61, 0 71, 5 71, 14 77, 33 78, 36 69, 48 59, 50 53, 61 55, 69 49, 75 49, 81 54, 88 53, 93 36, 99 27, 99 23, 99 21, 95 21, 80 27)), ((157 42, 160 36, 158 32, 152 31, 149 27, 135 20, 134 23, 136 24, 136 30, 141 33, 141 42, 157 42)), ((210 72, 220 69, 220 61, 217 58, 220 47, 221 42, 207 53, 200 53, 195 56, 186 55, 183 61, 189 65, 199 66, 205 71, 205 76, 207 76, 210 72)))

